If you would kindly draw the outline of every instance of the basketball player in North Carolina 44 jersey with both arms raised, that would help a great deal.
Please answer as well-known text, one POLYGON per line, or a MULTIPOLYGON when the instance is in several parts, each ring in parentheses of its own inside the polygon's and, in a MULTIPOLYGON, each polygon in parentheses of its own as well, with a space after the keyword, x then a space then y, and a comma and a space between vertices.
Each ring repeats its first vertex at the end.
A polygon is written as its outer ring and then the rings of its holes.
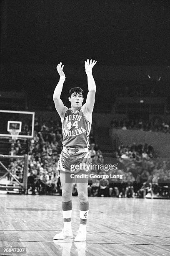
MULTIPOLYGON (((87 169, 82 169, 82 165, 90 166, 89 153, 89 134, 92 123, 92 111, 95 103, 95 80, 92 76, 92 68, 97 61, 87 59, 85 61, 85 72, 87 74, 88 94, 86 103, 84 101, 83 90, 80 87, 70 89, 68 99, 71 108, 64 106, 60 95, 62 86, 65 81, 62 63, 57 65, 57 72, 60 80, 55 88, 53 100, 55 108, 60 115, 62 122, 62 152, 58 161, 58 169, 60 170, 60 181, 62 186, 62 215, 64 228, 62 232, 54 236, 54 239, 71 239, 71 215, 72 215, 72 183, 69 182, 70 174, 88 174, 87 169), (71 165, 78 165, 81 168, 72 170, 71 165), (80 165, 82 164, 82 165, 80 165)), ((76 179, 77 193, 80 202, 80 226, 78 229, 75 242, 84 242, 86 240, 86 225, 89 211, 89 203, 87 197, 88 178, 76 179)))

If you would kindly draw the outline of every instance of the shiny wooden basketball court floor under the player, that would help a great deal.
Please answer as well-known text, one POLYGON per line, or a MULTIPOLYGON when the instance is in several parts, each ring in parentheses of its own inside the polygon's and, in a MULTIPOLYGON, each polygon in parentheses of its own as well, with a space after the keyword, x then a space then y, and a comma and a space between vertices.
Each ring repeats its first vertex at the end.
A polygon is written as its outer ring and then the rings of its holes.
POLYGON ((86 243, 74 243, 79 203, 72 197, 73 240, 53 241, 62 228, 62 198, 0 195, 0 247, 28 256, 170 255, 170 200, 89 197, 86 243))

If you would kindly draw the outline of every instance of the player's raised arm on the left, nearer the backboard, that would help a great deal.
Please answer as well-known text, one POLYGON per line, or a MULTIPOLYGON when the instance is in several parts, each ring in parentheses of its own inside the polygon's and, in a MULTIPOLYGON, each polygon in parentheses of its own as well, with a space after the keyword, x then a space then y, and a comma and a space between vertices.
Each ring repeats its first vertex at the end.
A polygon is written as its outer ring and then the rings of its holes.
POLYGON ((62 100, 60 99, 61 96, 61 92, 62 92, 62 87, 65 81, 65 74, 63 72, 63 67, 64 65, 62 65, 62 62, 60 62, 60 64, 57 65, 57 72, 60 75, 60 80, 57 83, 57 86, 55 87, 54 90, 54 94, 53 94, 53 100, 55 103, 55 108, 58 112, 58 114, 60 115, 60 118, 63 118, 65 115, 65 112, 67 111, 67 107, 63 104, 62 100))

